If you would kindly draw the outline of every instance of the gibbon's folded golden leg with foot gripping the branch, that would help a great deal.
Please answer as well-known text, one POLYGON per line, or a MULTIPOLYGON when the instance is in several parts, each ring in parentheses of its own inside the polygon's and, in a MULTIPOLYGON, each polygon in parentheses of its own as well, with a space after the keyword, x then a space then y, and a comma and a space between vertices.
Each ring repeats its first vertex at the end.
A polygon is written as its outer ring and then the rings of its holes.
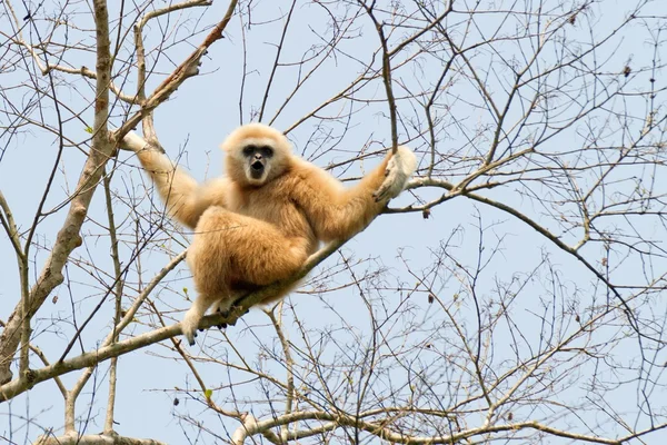
POLYGON ((207 209, 188 249, 188 265, 200 296, 182 322, 183 335, 192 345, 206 310, 218 301, 229 309, 238 289, 266 286, 288 278, 306 258, 308 241, 287 238, 269 222, 226 210, 207 209))

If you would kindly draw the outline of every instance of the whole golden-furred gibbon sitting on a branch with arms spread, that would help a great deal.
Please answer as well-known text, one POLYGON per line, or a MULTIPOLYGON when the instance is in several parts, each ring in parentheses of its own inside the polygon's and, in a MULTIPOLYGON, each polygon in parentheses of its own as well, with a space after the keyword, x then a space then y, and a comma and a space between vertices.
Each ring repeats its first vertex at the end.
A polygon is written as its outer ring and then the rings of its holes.
POLYGON ((137 152, 169 214, 195 229, 187 263, 198 296, 181 324, 190 345, 211 306, 228 310, 239 296, 289 278, 320 241, 362 230, 402 191, 417 167, 412 151, 401 146, 346 189, 325 170, 292 155, 280 131, 249 123, 221 145, 227 176, 199 185, 138 139, 126 136, 126 148, 137 152))

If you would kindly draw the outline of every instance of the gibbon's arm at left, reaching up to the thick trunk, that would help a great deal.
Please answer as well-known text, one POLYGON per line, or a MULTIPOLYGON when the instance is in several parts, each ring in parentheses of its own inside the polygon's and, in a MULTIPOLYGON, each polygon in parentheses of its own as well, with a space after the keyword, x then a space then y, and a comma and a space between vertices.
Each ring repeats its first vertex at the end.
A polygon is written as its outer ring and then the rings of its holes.
POLYGON ((141 145, 140 141, 143 139, 135 134, 123 139, 126 148, 137 154, 171 217, 193 229, 207 208, 225 206, 225 190, 228 187, 226 178, 199 185, 161 151, 150 147, 146 141, 141 145))

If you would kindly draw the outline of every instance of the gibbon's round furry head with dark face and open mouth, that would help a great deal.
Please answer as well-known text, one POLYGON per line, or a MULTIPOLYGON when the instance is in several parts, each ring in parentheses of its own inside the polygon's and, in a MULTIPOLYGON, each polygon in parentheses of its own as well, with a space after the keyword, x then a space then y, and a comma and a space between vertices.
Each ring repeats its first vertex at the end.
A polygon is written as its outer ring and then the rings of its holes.
POLYGON ((240 185, 261 187, 286 171, 290 145, 278 130, 261 123, 236 129, 222 144, 227 175, 240 185))

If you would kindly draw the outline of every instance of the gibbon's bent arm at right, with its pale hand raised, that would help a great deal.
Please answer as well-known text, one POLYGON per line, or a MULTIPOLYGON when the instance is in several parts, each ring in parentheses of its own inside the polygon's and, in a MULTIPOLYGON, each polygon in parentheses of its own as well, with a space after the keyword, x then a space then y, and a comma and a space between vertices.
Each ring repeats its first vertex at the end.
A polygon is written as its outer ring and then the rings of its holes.
POLYGON ((399 147, 366 175, 355 187, 345 189, 326 171, 307 164, 299 168, 295 200, 305 211, 316 236, 322 241, 344 239, 364 230, 402 191, 417 160, 407 147, 399 147))

